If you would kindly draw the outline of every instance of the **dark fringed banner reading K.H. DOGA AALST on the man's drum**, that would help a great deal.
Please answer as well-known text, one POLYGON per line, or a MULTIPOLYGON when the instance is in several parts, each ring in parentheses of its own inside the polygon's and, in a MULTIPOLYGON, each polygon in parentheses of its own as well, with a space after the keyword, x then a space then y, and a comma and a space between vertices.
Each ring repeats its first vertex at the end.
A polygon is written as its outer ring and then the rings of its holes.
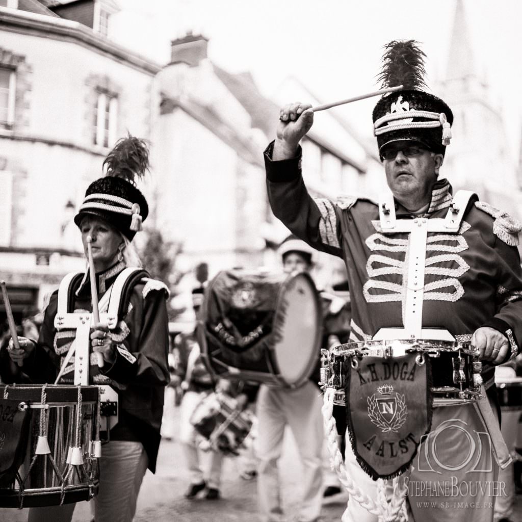
POLYGON ((362 469, 374 480, 406 471, 431 429, 429 357, 364 357, 346 365, 347 427, 362 469))

